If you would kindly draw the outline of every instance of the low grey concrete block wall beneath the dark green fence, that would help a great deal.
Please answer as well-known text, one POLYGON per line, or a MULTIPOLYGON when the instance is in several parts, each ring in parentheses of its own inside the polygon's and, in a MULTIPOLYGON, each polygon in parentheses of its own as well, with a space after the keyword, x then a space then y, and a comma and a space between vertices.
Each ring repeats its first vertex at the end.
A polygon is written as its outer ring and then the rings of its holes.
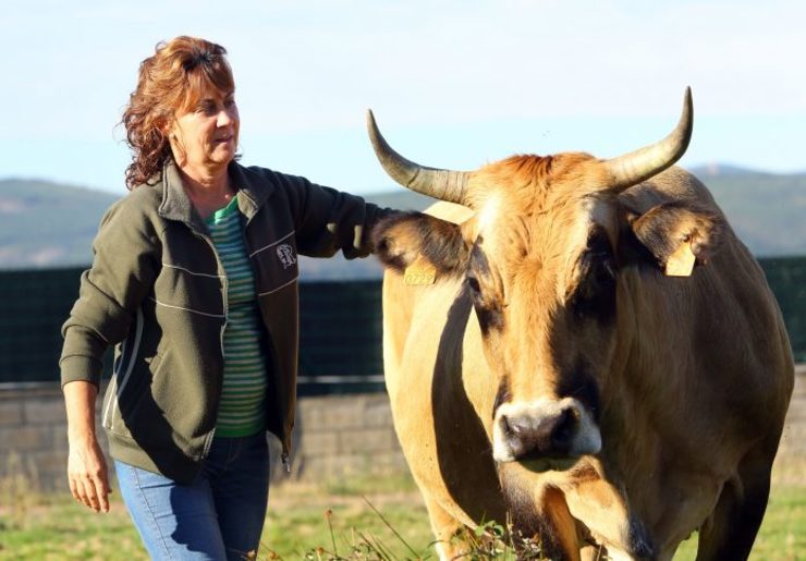
MULTIPOLYGON (((106 439, 101 440, 106 446, 106 439)), ((295 441, 289 475, 281 475, 279 451, 272 442, 274 480, 406 469, 384 393, 301 400, 295 441)), ((66 491, 66 454, 58 385, 0 389, 0 479, 24 474, 41 490, 66 491)), ((798 367, 780 454, 806 460, 806 366, 798 367)))

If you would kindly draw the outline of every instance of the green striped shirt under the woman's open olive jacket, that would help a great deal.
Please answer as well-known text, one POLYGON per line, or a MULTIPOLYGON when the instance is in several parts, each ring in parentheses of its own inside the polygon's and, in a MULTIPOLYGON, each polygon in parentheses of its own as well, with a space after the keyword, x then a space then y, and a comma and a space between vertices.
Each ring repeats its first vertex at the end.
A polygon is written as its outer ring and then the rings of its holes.
POLYGON ((237 196, 206 222, 228 281, 224 383, 216 436, 244 437, 266 429, 267 381, 255 277, 244 246, 237 196))

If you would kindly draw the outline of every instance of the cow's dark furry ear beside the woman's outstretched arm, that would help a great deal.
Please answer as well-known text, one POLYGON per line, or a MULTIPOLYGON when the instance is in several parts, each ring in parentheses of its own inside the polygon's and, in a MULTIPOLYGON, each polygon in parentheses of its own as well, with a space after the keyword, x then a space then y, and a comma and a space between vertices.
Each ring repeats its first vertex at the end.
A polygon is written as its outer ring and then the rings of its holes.
POLYGON ((438 272, 464 271, 469 247, 461 228, 422 212, 400 212, 373 228, 375 254, 387 267, 399 271, 426 259, 438 272))

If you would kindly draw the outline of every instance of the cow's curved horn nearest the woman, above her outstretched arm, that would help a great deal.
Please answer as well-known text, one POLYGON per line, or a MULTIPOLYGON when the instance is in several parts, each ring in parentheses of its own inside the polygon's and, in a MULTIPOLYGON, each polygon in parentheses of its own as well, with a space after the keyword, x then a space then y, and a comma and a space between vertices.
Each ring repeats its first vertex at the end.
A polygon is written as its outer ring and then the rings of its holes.
POLYGON ((371 109, 367 110, 367 131, 378 161, 394 181, 429 197, 467 205, 465 188, 468 172, 427 168, 407 160, 394 151, 381 136, 371 109))

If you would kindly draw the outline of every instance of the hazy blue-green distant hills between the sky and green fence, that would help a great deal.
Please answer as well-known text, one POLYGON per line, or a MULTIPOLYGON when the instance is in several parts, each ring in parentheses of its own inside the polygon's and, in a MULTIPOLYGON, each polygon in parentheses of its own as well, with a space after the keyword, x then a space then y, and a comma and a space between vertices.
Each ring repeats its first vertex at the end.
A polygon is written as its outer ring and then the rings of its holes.
MULTIPOLYGON (((730 166, 692 170, 759 257, 806 255, 806 173, 778 175, 730 166)), ((118 197, 45 181, 0 180, 0 269, 84 266, 103 211, 118 197)), ((422 210, 432 200, 400 187, 368 195, 380 206, 422 210)), ((301 259, 304 280, 377 278, 375 258, 301 259)))

